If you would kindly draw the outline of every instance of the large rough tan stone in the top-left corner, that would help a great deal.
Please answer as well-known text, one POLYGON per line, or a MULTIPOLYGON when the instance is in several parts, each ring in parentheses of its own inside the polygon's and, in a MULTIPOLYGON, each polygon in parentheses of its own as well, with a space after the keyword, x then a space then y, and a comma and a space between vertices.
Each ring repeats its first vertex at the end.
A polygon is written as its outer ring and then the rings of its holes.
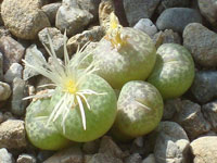
POLYGON ((1 16, 14 36, 36 39, 39 30, 50 26, 48 16, 40 8, 41 0, 4 0, 1 16))

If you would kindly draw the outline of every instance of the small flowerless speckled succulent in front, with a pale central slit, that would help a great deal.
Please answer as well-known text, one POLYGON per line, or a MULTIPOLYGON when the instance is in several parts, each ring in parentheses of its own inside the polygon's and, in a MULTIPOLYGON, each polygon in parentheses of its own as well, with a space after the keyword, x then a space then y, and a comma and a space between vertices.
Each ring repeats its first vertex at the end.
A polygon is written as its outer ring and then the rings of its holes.
POLYGON ((117 101, 112 135, 128 140, 152 131, 162 118, 163 108, 163 98, 151 84, 141 80, 125 84, 117 101))

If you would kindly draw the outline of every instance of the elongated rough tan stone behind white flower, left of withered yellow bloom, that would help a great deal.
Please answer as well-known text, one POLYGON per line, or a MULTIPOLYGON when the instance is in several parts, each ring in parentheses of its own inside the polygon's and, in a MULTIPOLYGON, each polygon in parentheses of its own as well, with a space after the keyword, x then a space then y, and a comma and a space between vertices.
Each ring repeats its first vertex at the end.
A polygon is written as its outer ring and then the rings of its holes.
POLYGON ((82 48, 87 42, 100 41, 104 36, 104 29, 101 26, 94 26, 89 30, 85 30, 81 34, 77 34, 71 37, 67 41, 67 49, 71 53, 76 52, 78 46, 82 48))

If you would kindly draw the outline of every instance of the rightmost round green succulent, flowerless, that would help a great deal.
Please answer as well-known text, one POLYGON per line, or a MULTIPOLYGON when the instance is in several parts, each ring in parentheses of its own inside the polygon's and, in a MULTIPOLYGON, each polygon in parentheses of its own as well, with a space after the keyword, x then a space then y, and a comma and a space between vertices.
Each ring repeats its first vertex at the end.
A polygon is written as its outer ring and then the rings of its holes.
POLYGON ((180 97, 194 78, 191 53, 176 43, 162 45, 156 53, 156 64, 148 82, 159 90, 164 99, 180 97))

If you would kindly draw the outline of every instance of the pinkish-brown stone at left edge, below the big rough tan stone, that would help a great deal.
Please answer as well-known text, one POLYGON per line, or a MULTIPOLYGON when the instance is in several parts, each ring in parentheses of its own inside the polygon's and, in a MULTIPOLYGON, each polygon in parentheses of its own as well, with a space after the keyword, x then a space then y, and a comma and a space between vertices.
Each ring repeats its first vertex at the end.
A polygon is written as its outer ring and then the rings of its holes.
POLYGON ((11 37, 0 38, 0 51, 3 54, 3 71, 7 72, 12 63, 20 63, 23 59, 25 48, 11 37))

